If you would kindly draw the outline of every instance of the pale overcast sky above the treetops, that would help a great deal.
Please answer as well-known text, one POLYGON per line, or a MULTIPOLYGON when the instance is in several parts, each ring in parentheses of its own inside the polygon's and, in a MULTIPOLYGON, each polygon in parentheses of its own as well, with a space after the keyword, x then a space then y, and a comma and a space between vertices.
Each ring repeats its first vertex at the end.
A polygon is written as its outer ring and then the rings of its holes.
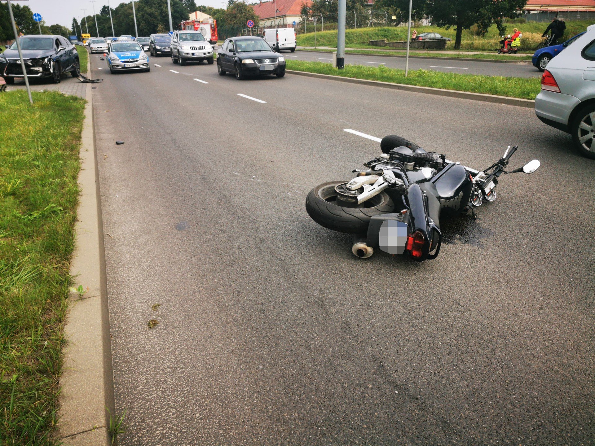
MULTIPOLYGON (((29 0, 18 1, 12 0, 20 5, 29 5, 29 8, 35 13, 41 14, 46 25, 53 25, 59 23, 70 28, 72 18, 78 15, 83 15, 83 9, 87 15, 93 14, 93 4, 89 0, 29 0)), ((117 7, 120 3, 125 3, 122 0, 109 0, 109 5, 112 9, 117 7)), ((95 2, 95 12, 99 14, 101 7, 107 5, 108 0, 97 0, 95 2)), ((227 5, 227 0, 196 0, 197 5, 212 6, 215 8, 224 8, 227 5)))

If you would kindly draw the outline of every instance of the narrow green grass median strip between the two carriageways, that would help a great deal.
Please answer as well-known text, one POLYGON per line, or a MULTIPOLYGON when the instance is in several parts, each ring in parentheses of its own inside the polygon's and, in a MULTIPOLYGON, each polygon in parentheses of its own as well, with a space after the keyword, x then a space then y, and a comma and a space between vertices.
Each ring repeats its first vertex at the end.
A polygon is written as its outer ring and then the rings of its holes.
POLYGON ((480 76, 427 70, 409 71, 409 76, 405 77, 405 70, 386 67, 345 65, 345 69, 338 70, 333 68, 333 65, 323 62, 287 61, 286 63, 287 70, 333 74, 334 76, 379 80, 396 84, 457 90, 459 92, 509 96, 510 98, 535 99, 541 89, 541 80, 537 77, 480 76))

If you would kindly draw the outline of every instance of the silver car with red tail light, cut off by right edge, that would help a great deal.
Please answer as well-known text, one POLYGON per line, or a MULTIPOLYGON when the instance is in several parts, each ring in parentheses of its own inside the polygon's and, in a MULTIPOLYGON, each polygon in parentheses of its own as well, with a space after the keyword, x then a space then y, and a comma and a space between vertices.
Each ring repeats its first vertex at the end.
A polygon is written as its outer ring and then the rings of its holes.
POLYGON ((595 26, 547 64, 535 114, 570 133, 579 152, 595 159, 595 26))

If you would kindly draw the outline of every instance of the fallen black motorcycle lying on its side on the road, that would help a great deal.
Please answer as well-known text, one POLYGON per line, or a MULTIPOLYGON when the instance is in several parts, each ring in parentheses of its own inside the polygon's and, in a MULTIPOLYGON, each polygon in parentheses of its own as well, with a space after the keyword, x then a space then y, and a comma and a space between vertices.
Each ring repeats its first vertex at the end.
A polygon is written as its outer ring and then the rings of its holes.
POLYGON ((493 165, 477 171, 445 155, 426 152, 399 137, 380 142, 382 155, 364 163, 353 180, 323 183, 306 197, 306 211, 318 224, 355 234, 352 252, 366 258, 374 247, 389 254, 405 254, 417 262, 435 259, 440 252, 440 217, 471 211, 484 200, 496 199, 501 174, 531 174, 537 159, 505 171, 517 147, 508 147, 493 165))

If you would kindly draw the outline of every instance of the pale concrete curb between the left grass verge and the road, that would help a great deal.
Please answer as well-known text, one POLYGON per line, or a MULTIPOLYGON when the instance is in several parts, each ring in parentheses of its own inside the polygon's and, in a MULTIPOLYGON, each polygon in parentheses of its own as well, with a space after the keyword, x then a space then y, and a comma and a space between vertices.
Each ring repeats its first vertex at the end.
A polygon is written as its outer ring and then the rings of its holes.
POLYGON ((98 162, 93 126, 91 85, 87 84, 87 105, 80 159, 76 245, 70 274, 74 286, 87 290, 82 299, 70 296, 64 328, 64 369, 60 378, 60 424, 56 438, 67 446, 108 446, 109 417, 114 414, 114 378, 98 162))

